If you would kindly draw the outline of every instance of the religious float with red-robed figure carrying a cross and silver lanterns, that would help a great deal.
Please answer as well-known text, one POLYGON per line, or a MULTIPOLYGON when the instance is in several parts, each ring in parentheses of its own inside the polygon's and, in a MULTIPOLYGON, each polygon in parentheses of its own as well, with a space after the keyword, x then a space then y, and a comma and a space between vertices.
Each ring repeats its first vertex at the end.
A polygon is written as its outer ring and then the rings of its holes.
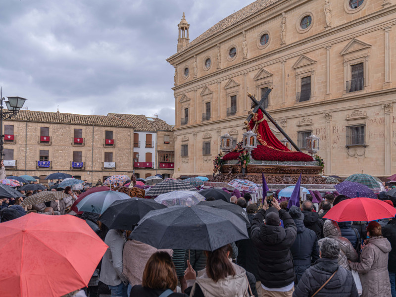
POLYGON ((310 155, 303 153, 263 107, 271 90, 269 88, 259 102, 247 93, 252 100, 253 110, 248 112, 249 116, 244 123, 246 132, 236 147, 233 147, 234 138, 229 134, 220 137, 221 152, 213 160, 212 183, 239 178, 261 184, 264 173, 267 183, 288 185, 296 184, 301 173, 301 184, 327 184, 326 179, 320 175, 324 169, 323 159, 316 154, 319 138, 309 136, 306 139, 306 150, 310 155), (275 137, 264 115, 282 133, 284 139, 279 141, 275 137), (292 147, 296 151, 292 151, 292 147))

